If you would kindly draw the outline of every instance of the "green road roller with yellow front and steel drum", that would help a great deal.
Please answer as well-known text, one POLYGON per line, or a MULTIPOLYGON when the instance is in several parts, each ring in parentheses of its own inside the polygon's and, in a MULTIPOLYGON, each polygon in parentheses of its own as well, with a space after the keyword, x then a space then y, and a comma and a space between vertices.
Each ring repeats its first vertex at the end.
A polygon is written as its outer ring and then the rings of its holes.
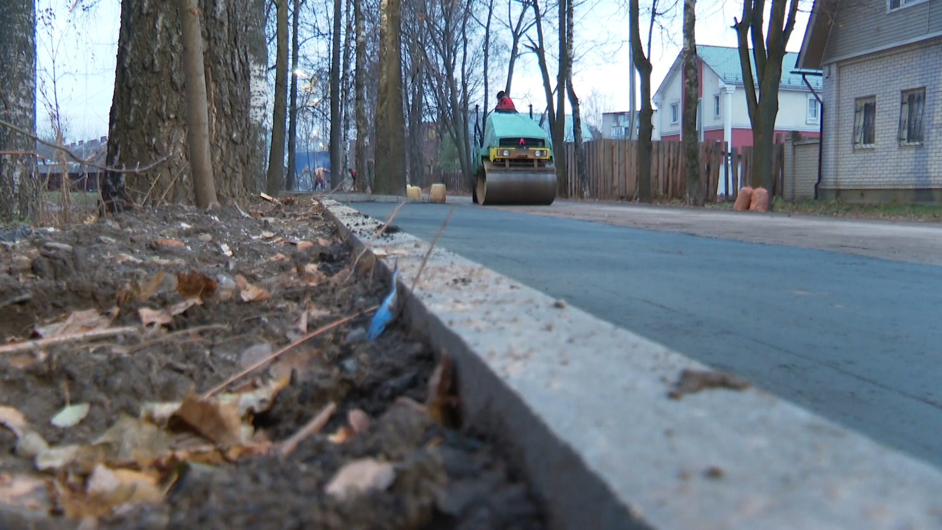
POLYGON ((539 124, 515 110, 492 110, 475 128, 471 186, 479 205, 551 205, 556 199, 553 145, 539 124))

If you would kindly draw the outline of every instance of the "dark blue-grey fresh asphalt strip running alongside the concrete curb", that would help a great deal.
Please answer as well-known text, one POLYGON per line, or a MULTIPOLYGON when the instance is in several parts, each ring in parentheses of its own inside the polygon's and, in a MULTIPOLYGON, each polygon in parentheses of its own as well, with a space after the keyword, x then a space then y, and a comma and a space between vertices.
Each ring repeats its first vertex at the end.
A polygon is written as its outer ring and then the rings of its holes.
POLYGON ((942 267, 471 206, 438 245, 942 468, 942 267))

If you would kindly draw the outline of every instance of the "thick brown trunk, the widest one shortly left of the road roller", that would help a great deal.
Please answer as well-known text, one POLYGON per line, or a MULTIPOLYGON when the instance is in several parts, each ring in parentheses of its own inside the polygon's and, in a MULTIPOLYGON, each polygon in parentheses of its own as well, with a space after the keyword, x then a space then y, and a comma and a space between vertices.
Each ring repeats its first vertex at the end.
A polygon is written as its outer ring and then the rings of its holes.
POLYGON ((400 8, 400 0, 380 2, 380 91, 376 112, 373 192, 388 195, 406 194, 400 8))

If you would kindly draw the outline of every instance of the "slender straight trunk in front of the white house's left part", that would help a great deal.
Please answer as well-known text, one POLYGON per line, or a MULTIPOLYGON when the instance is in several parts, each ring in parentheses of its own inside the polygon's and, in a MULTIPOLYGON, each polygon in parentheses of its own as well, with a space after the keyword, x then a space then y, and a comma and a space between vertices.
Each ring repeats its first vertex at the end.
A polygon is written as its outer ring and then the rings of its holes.
POLYGON ((696 26, 697 0, 684 0, 684 175, 687 180, 687 201, 703 206, 700 190, 700 139, 697 131, 697 111, 700 107, 700 75, 697 74, 696 26))

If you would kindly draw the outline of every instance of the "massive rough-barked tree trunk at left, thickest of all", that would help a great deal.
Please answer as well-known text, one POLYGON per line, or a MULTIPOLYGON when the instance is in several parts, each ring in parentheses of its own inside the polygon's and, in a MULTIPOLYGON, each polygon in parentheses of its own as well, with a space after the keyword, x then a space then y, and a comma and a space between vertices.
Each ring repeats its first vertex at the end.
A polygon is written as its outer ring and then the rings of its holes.
MULTIPOLYGON (((245 197, 257 190, 258 164, 265 158, 257 114, 264 103, 257 85, 259 70, 265 72, 265 62, 258 62, 266 55, 260 23, 264 11, 259 11, 264 3, 233 0, 225 9, 205 6, 200 0, 216 191, 220 199, 245 197)), ((195 200, 185 143, 182 51, 175 3, 122 0, 106 165, 134 169, 163 162, 146 173, 106 172, 102 199, 109 209, 120 209, 126 200, 195 200)))

